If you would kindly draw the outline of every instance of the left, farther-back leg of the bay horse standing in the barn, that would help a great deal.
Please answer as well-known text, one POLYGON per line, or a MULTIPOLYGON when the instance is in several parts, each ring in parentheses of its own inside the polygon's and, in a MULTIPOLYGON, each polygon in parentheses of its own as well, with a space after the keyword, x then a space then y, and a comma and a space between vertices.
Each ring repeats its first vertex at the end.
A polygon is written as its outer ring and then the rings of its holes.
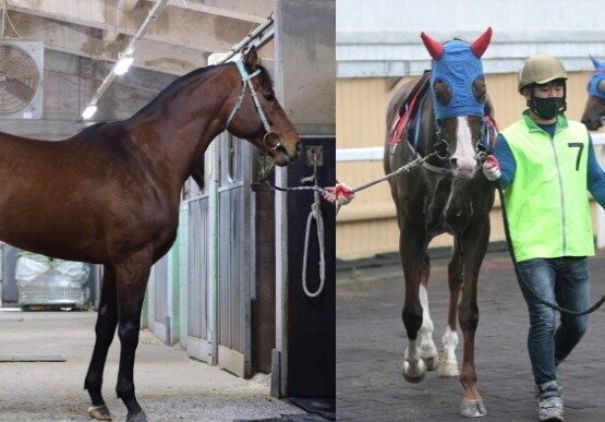
POLYGON ((99 312, 95 327, 96 341, 88 366, 88 373, 84 382, 84 388, 88 390, 93 406, 88 413, 93 419, 110 421, 111 414, 101 396, 102 372, 107 360, 107 351, 113 340, 116 326, 118 325, 118 309, 116 304, 116 278, 113 268, 106 265, 104 268, 101 297, 99 312))

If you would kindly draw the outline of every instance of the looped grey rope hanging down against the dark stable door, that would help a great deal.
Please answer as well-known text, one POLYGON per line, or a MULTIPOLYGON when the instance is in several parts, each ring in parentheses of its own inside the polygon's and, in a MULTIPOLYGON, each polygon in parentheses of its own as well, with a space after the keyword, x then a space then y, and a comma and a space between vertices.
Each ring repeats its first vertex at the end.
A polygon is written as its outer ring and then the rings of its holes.
MULTIPOLYGON (((302 268, 302 286, 304 293, 308 298, 316 298, 324 291, 324 285, 326 281, 326 258, 325 258, 325 245, 324 245, 324 218, 322 217, 322 197, 319 195, 320 188, 317 186, 317 156, 313 154, 313 180, 315 182, 315 188, 313 192, 313 204, 311 205, 311 213, 306 218, 306 229, 304 233, 304 252, 303 252, 303 268, 302 268), (308 239, 311 233, 311 222, 315 219, 315 226, 317 227, 317 242, 319 244, 319 287, 315 292, 311 292, 306 286, 306 262, 308 261, 308 239)), ((322 190, 323 191, 323 190, 322 190)))

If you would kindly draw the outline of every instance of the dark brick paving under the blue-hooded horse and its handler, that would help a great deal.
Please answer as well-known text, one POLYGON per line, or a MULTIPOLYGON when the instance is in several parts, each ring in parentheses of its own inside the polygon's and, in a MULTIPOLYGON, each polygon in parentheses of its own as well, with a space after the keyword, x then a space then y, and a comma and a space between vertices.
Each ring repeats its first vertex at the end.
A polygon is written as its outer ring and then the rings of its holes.
MULTIPOLYGON (((428 292, 438 348, 448 300, 443 252, 434 253, 428 292)), ((591 268, 594 302, 605 294, 604 252, 591 258, 591 268)), ((459 415, 462 387, 457 378, 431 372, 421 384, 409 384, 400 375, 406 340, 398 256, 339 262, 337 286, 338 421, 468 421, 459 415)), ((527 309, 501 246, 487 254, 479 301, 475 367, 488 412, 483 420, 536 421, 527 309)), ((605 421, 604 336, 605 305, 592 314, 584 339, 559 367, 567 422, 605 421)))

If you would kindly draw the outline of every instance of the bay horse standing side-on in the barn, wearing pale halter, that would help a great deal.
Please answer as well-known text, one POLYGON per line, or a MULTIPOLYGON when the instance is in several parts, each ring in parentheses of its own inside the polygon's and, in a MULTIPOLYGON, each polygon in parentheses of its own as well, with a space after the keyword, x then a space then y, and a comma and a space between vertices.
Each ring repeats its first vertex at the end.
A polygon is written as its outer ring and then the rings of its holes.
POLYGON ((147 421, 133 367, 149 270, 174 242, 181 186, 225 130, 266 150, 278 166, 300 152, 300 136, 254 47, 238 63, 179 77, 130 119, 97 123, 59 142, 0 133, 0 239, 104 266, 84 383, 94 419, 111 420, 101 385, 118 327, 116 391, 126 422, 147 421))

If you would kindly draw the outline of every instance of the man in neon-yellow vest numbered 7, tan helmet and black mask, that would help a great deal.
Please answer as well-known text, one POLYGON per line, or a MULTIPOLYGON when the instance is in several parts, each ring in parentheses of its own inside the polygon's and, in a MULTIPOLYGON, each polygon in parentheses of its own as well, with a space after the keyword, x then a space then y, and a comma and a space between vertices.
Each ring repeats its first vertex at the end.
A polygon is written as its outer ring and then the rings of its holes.
POLYGON ((518 91, 528 109, 498 135, 496 159, 483 165, 485 177, 505 190, 517 278, 530 316, 528 350, 541 421, 564 420, 557 366, 582 338, 588 316, 561 314, 556 327, 555 311, 534 299, 519 272, 543 300, 588 309, 586 256, 594 255, 594 242, 586 190, 605 207, 605 174, 590 134, 564 114, 566 80, 562 63, 552 56, 525 60, 518 91))

